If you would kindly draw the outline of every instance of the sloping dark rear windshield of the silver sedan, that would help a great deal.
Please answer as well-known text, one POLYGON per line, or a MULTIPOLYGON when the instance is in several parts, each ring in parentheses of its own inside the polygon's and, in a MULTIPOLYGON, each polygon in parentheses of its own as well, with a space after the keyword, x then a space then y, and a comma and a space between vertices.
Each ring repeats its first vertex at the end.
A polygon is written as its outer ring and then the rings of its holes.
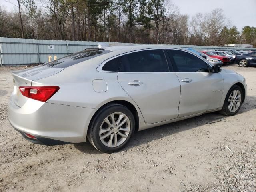
POLYGON ((85 60, 106 54, 111 52, 110 50, 104 49, 86 49, 84 51, 80 51, 74 54, 70 54, 66 57, 59 58, 57 60, 48 62, 46 64, 42 64, 43 66, 47 67, 54 67, 54 68, 66 68, 72 66, 74 64, 78 64, 85 60))

